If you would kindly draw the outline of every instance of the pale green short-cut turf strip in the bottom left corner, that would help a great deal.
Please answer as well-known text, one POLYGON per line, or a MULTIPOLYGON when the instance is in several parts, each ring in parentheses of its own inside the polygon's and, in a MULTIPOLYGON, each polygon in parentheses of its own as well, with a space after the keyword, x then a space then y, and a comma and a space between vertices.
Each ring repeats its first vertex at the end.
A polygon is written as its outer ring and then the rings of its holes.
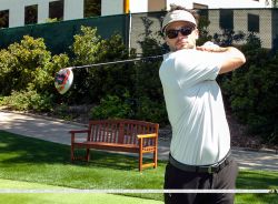
MULTIPOLYGON (((11 181, 0 178, 0 188, 17 188, 17 190, 67 190, 67 187, 59 187, 47 184, 38 184, 31 182, 11 181)), ((162 204, 162 202, 128 197, 121 195, 111 194, 91 194, 91 193, 7 193, 0 194, 0 203, 9 204, 28 204, 28 203, 40 203, 40 204, 76 204, 76 203, 96 203, 96 204, 162 204), (93 201, 93 202, 92 202, 93 201)))

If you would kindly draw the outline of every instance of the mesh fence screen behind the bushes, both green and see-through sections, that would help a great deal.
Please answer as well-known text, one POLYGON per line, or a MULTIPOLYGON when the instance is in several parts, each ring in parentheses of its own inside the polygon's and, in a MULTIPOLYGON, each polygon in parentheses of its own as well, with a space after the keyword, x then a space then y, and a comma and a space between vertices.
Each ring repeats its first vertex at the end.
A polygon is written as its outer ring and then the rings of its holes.
MULTIPOLYGON (((29 34, 34 38, 43 38, 47 48, 54 54, 68 52, 69 45, 73 42, 73 35, 80 31, 80 27, 90 26, 97 27, 98 33, 103 39, 118 32, 127 45, 129 44, 140 53, 141 48, 138 41, 142 41, 150 33, 157 34, 161 29, 165 13, 165 11, 132 13, 131 28, 129 27, 129 14, 119 14, 0 29, 0 49, 19 42, 24 34, 29 34)), ((241 32, 245 35, 254 32, 260 38, 264 48, 278 48, 277 9, 209 9, 199 10, 199 13, 208 20, 209 24, 205 29, 207 35, 211 38, 221 37, 224 39, 232 32, 241 32), (227 33, 228 30, 231 32, 227 33)), ((161 35, 157 34, 156 38, 163 42, 161 35)))

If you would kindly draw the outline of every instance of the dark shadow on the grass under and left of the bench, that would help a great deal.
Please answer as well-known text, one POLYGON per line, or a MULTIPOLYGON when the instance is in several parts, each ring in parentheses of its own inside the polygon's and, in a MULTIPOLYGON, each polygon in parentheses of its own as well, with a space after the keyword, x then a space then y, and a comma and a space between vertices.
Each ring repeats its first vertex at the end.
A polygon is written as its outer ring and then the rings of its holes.
MULTIPOLYGON (((0 131, 0 161, 4 165, 20 163, 71 164, 70 146, 64 144, 57 144, 0 131)), ((85 155, 85 150, 78 150, 78 153, 80 155, 85 155)), ((130 156, 92 150, 90 152, 90 162, 75 161, 72 164, 80 166, 138 171, 137 155, 130 156)), ((145 159, 143 162, 150 162, 150 160, 145 159)))

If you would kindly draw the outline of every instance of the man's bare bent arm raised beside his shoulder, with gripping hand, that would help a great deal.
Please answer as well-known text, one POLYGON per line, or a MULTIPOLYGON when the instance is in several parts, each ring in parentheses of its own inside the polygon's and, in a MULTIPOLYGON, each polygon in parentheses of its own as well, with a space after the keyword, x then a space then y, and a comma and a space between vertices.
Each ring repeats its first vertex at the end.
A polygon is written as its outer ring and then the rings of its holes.
POLYGON ((197 50, 221 54, 219 57, 224 59, 224 63, 221 64, 219 74, 236 70, 246 62, 245 54, 234 47, 221 48, 216 44, 206 45, 205 43, 202 47, 197 47, 197 50))

